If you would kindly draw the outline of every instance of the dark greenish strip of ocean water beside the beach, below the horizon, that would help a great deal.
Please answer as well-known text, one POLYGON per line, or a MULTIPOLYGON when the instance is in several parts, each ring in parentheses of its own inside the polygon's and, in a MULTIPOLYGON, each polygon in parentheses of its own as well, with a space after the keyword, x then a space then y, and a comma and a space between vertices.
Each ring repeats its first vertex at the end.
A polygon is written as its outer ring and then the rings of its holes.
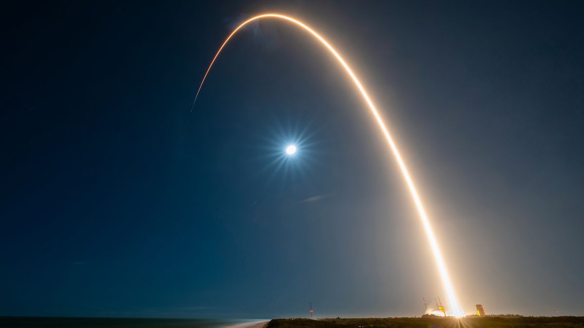
POLYGON ((27 328, 250 328, 268 319, 155 319, 116 317, 0 317, 0 327, 27 328))

